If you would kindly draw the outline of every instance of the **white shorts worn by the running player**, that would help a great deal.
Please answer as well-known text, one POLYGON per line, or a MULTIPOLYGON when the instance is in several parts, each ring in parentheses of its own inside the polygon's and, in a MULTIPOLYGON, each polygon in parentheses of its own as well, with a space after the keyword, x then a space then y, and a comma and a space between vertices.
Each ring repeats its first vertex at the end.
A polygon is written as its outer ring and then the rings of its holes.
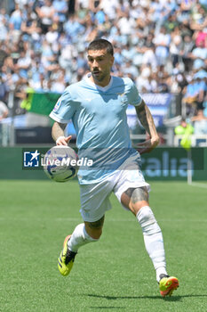
POLYGON ((99 220, 111 209, 109 196, 112 192, 121 202, 121 196, 128 188, 142 186, 146 186, 149 192, 150 186, 145 181, 138 163, 126 160, 119 170, 115 170, 100 183, 80 185, 82 218, 88 222, 99 220))

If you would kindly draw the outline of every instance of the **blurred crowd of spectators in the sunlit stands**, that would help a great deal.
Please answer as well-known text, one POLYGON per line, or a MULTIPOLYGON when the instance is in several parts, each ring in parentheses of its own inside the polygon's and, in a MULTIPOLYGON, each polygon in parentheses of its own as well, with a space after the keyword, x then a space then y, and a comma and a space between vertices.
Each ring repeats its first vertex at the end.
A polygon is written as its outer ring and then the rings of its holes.
MULTIPOLYGON (((115 46, 114 74, 143 93, 182 94, 207 116, 207 0, 15 0, 0 9, 0 101, 12 89, 62 93, 86 71, 86 46, 115 46)), ((20 113, 20 107, 16 113, 20 113)))

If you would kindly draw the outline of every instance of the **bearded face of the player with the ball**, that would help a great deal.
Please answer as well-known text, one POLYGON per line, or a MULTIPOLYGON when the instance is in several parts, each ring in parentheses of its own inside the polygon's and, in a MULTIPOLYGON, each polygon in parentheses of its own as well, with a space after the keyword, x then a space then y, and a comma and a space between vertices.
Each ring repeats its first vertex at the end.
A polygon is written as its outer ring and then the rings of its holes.
POLYGON ((92 80, 99 86, 107 86, 114 57, 107 50, 89 50, 88 64, 92 72, 92 80))

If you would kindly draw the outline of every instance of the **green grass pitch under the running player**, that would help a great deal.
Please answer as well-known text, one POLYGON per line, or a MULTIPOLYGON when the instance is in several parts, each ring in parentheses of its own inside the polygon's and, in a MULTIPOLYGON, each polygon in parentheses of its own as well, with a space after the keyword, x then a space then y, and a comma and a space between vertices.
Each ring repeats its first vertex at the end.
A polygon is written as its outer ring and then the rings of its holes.
POLYGON ((57 259, 82 222, 76 181, 0 181, 1 312, 206 311, 206 188, 152 183, 167 268, 180 287, 162 299, 136 219, 111 196, 100 242, 79 250, 68 277, 57 259))

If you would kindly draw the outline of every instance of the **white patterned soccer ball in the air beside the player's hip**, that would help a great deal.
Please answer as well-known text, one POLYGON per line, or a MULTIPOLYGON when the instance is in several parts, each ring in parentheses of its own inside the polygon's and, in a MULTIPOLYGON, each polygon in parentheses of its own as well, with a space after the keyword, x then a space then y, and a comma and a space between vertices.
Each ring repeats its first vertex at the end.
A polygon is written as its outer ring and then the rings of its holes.
POLYGON ((53 146, 44 155, 44 172, 56 182, 66 182, 76 176, 76 152, 69 146, 53 146))

